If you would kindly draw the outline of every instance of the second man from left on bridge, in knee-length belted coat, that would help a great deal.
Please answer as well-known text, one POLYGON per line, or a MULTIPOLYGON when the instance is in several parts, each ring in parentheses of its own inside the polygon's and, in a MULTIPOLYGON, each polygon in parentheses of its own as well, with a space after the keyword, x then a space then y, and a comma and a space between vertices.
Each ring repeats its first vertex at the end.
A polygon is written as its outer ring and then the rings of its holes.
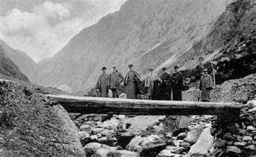
POLYGON ((123 75, 117 71, 117 66, 113 66, 113 72, 109 74, 110 77, 110 90, 112 91, 113 98, 118 98, 120 93, 120 83, 124 80, 123 75))

